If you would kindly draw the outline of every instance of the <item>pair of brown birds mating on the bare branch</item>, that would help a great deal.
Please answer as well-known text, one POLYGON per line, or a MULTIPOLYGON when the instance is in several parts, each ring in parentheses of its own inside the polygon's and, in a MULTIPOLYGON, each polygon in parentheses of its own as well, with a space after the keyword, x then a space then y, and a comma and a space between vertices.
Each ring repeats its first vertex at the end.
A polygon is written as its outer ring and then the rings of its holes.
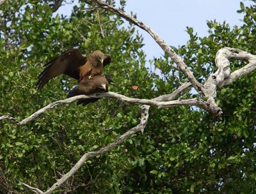
MULTIPOLYGON (((99 50, 88 56, 82 56, 77 48, 63 52, 60 56, 52 59, 38 76, 36 86, 42 89, 51 78, 65 74, 79 80, 78 86, 72 89, 67 97, 81 94, 94 94, 108 92, 108 85, 112 82, 110 75, 102 75, 103 67, 111 63, 111 57, 99 50)), ((86 105, 95 102, 99 98, 88 98, 77 101, 77 105, 86 105)))

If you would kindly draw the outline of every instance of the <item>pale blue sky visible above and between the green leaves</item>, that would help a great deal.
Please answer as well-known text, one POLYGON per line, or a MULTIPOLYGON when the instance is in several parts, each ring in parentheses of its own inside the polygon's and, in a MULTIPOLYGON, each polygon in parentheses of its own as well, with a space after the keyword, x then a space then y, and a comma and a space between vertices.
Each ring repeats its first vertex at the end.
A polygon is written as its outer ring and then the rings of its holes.
MULTIPOLYGON (((243 14, 237 13, 240 2, 248 0, 127 0, 125 11, 136 13, 137 19, 150 27, 161 38, 174 47, 186 44, 189 36, 186 27, 193 27, 198 36, 207 36, 207 20, 226 21, 230 26, 241 26, 243 14)), ((58 13, 70 15, 72 6, 62 6, 58 13)), ((163 50, 145 31, 136 27, 143 35, 143 50, 147 59, 160 57, 163 50)))

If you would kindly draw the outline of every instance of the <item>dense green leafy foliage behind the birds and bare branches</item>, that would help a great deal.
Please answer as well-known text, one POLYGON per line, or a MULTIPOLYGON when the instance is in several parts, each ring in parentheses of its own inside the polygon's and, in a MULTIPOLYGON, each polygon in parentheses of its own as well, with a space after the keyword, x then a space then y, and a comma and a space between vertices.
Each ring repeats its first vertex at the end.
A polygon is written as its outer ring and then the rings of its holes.
MULTIPOLYGON (((245 7, 244 25, 209 21, 209 36, 175 48, 204 82, 214 70, 221 47, 255 53, 256 5, 245 7)), ((112 63, 104 73, 113 75, 110 91, 136 98, 168 94, 186 78, 164 56, 145 61, 143 38, 133 26, 105 10, 84 11, 79 1, 72 15, 52 15, 52 1, 8 1, 0 10, 0 115, 23 119, 64 99, 76 82, 68 77, 51 80, 36 91, 42 65, 71 47, 88 54, 102 50, 112 63), (100 25, 104 34, 100 32, 100 25), (132 90, 132 86, 138 90, 132 90)), ((125 2, 121 1, 122 9, 125 2)), ((245 63, 234 61, 232 71, 245 63)), ((255 193, 255 73, 218 91, 222 121, 194 107, 150 108, 143 135, 137 134, 104 156, 87 161, 60 190, 70 193, 255 193)), ((182 98, 195 97, 190 92, 182 98)), ((20 182, 46 190, 88 151, 99 149, 138 124, 140 107, 102 99, 86 107, 72 103, 56 107, 24 126, 0 123, 0 165, 9 183, 28 193, 20 182)), ((56 191, 58 193, 60 190, 56 191)))

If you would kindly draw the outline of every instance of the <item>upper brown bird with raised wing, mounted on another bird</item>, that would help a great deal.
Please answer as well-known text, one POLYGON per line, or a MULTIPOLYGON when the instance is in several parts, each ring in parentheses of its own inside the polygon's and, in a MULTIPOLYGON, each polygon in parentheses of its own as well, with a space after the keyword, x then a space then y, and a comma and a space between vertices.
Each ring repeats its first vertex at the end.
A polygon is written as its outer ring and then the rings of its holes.
POLYGON ((101 75, 103 67, 111 62, 110 56, 95 50, 88 56, 82 56, 77 48, 63 52, 60 56, 45 64, 45 69, 38 76, 36 86, 42 89, 51 78, 65 74, 81 82, 94 75, 101 75))

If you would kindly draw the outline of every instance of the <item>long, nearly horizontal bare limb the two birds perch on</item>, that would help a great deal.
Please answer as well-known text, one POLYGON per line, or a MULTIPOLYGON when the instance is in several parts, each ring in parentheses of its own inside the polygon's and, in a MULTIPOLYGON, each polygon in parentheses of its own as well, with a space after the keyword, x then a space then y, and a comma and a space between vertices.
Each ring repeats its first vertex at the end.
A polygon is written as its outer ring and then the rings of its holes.
MULTIPOLYGON (((3 121, 4 119, 12 121, 15 124, 22 125, 26 124, 29 121, 32 121, 33 119, 36 119, 36 117, 40 116, 41 114, 44 114, 47 112, 47 110, 50 110, 57 105, 65 105, 68 103, 71 103, 73 101, 79 100, 79 99, 88 99, 88 98, 102 98, 102 97, 109 97, 109 98, 117 98, 120 101, 124 101, 127 103, 132 103, 132 104, 141 104, 141 105, 153 105, 158 108, 166 108, 166 107, 177 107, 180 105, 189 105, 189 106, 198 106, 201 108, 204 108, 205 110, 208 110, 208 105, 204 100, 200 100, 198 98, 193 98, 193 99, 188 99, 188 100, 173 100, 173 101, 156 101, 156 100, 148 100, 148 99, 138 99, 138 98, 129 98, 127 96, 124 96, 122 94, 117 94, 117 93, 99 93, 99 94, 92 94, 90 96, 86 95, 79 95, 79 96, 74 96, 72 98, 67 98, 65 100, 59 100, 59 101, 54 101, 50 103, 49 105, 45 106, 44 108, 41 108, 40 110, 36 111, 34 114, 31 114, 31 116, 23 119, 22 121, 18 121, 17 119, 11 117, 11 116, 1 116, 0 121, 3 121)), ((166 98, 166 97, 164 97, 166 98)))

